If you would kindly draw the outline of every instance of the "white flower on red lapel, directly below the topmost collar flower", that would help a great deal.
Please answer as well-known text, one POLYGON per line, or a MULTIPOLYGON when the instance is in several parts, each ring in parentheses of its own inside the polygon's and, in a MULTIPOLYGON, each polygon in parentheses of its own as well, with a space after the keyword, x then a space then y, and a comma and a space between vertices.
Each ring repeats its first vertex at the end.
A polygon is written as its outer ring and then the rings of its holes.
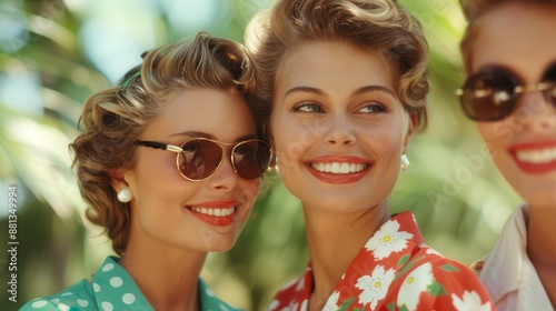
POLYGON ((383 265, 377 265, 371 275, 363 275, 357 280, 356 288, 363 292, 359 294, 359 303, 370 302, 370 309, 375 309, 378 301, 388 293, 388 288, 396 277, 394 269, 385 271, 383 265))

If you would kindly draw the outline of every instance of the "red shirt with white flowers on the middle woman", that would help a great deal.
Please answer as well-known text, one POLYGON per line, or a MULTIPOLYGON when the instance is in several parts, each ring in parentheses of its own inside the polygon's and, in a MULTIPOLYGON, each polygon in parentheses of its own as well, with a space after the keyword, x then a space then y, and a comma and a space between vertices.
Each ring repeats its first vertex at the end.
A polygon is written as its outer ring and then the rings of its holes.
MULTIPOLYGON (((312 269, 284 288, 271 311, 305 311, 312 269)), ((496 310, 475 273, 425 245, 411 212, 394 215, 367 241, 322 310, 496 310)))

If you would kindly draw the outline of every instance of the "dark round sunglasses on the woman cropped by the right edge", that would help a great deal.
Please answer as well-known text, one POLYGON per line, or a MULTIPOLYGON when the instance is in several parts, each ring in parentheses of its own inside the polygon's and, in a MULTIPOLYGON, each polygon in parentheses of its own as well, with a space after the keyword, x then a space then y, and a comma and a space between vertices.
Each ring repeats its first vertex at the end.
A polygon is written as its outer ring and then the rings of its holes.
POLYGON ((457 90, 461 108, 475 121, 499 121, 512 114, 525 92, 539 91, 556 107, 556 62, 543 74, 542 82, 524 84, 512 70, 490 66, 470 76, 457 90))

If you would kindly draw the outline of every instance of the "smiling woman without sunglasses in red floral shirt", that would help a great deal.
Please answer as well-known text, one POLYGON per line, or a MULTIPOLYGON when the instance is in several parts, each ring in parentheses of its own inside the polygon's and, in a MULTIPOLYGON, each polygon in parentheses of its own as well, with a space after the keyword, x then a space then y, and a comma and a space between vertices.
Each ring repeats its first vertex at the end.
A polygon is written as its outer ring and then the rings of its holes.
POLYGON ((278 0, 248 26, 257 112, 302 205, 310 262, 270 310, 492 310, 388 198, 426 126, 427 43, 397 1, 278 0))

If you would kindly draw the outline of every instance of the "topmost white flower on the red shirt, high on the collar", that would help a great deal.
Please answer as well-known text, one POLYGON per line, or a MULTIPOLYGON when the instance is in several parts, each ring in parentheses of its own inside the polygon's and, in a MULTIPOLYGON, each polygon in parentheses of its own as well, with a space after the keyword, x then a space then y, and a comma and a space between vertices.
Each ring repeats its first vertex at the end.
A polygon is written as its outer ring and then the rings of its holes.
POLYGON ((396 220, 388 220, 365 244, 368 251, 373 252, 375 259, 380 260, 389 257, 393 252, 399 252, 407 247, 407 240, 414 234, 399 231, 399 223, 396 220))

